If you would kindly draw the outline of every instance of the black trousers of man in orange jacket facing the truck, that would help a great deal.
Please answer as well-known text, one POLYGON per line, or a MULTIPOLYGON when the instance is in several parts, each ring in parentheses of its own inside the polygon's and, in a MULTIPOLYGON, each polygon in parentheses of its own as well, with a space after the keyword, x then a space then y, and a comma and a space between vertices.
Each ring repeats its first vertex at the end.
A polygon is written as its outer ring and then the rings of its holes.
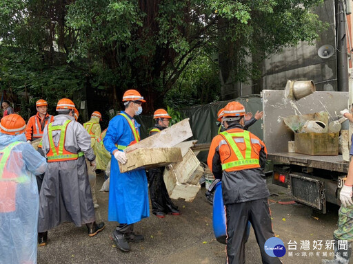
POLYGON ((227 263, 245 263, 245 236, 248 221, 254 228, 256 241, 261 251, 262 263, 282 263, 279 258, 268 256, 265 241, 274 236, 268 199, 232 203, 225 206, 227 219, 227 263))

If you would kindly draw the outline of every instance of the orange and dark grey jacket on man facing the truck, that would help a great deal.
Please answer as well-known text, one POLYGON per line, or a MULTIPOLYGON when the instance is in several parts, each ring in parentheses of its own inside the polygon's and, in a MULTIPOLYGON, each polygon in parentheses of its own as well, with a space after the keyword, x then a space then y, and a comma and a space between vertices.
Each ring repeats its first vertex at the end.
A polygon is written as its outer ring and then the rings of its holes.
MULTIPOLYGON (((230 126, 228 133, 242 133, 243 128, 240 124, 230 126)), ((223 199, 225 205, 263 199, 270 195, 266 186, 265 168, 266 147, 265 144, 249 133, 251 142, 251 159, 259 159, 259 164, 243 164, 231 168, 222 169, 222 164, 236 162, 238 158, 232 150, 224 135, 216 135, 211 143, 208 153, 208 166, 214 177, 222 180, 223 199)), ((243 137, 233 137, 239 151, 245 157, 245 140, 243 137)))

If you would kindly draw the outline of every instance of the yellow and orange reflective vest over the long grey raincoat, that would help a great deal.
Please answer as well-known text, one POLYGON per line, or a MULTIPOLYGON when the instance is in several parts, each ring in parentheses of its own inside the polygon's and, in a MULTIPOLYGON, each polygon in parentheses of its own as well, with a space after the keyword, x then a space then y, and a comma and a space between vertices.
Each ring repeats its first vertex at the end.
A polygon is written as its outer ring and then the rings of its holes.
POLYGON ((52 123, 48 125, 48 139, 49 139, 49 144, 50 144, 50 150, 52 153, 48 155, 47 153, 47 159, 48 162, 62 162, 65 160, 72 160, 72 159, 77 159, 79 155, 77 153, 71 153, 65 150, 64 144, 65 144, 65 135, 66 135, 66 129, 68 128, 68 124, 72 120, 66 120, 62 125, 57 125, 57 126, 52 126, 52 123), (52 131, 55 130, 60 130, 60 139, 59 139, 59 144, 56 147, 54 144, 54 140, 52 139, 52 131), (63 153, 63 152, 67 153, 63 153))

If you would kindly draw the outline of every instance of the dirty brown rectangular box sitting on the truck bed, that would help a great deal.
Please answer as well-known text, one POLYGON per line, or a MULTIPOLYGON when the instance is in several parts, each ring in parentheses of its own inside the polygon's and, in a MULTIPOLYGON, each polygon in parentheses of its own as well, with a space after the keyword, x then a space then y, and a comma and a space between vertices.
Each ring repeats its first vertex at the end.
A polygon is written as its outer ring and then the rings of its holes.
POLYGON ((295 133, 295 152, 312 156, 339 155, 339 133, 295 133))

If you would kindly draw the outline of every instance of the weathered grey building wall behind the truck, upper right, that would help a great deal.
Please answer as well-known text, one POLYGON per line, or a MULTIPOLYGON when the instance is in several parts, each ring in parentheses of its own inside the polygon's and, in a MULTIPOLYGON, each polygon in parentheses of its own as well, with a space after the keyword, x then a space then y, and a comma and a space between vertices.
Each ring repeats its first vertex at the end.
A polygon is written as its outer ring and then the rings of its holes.
POLYGON ((259 85, 263 89, 285 89, 287 80, 313 80, 318 91, 336 91, 336 52, 330 58, 317 54, 322 45, 335 45, 334 1, 327 0, 314 10, 329 27, 321 32, 320 39, 288 47, 279 54, 273 54, 263 62, 263 74, 259 85))

